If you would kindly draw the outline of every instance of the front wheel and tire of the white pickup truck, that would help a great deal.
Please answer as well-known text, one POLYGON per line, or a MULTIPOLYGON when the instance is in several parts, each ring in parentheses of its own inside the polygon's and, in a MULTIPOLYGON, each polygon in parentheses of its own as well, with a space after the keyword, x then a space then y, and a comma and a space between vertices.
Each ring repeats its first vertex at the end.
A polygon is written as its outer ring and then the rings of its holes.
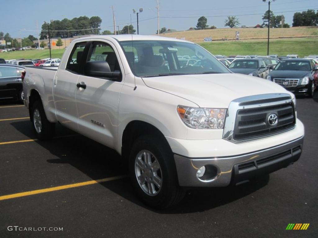
POLYGON ((163 209, 182 200, 185 193, 179 187, 173 154, 164 138, 140 136, 131 148, 128 163, 135 192, 149 207, 163 209), (148 155, 148 163, 145 162, 145 155, 148 155), (137 176, 143 181, 140 182, 137 176))

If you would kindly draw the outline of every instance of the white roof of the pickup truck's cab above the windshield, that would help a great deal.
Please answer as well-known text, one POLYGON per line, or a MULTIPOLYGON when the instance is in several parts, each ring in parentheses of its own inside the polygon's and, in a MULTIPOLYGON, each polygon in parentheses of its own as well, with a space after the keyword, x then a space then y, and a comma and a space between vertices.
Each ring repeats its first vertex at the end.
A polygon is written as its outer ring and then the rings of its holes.
MULTIPOLYGON (((96 35, 96 36, 87 36, 87 37, 82 37, 78 38, 74 41, 78 40, 84 40, 84 39, 109 39, 109 38, 114 38, 117 41, 138 41, 138 40, 161 40, 161 41, 179 41, 179 42, 190 42, 186 40, 181 40, 181 39, 176 39, 172 37, 163 37, 163 36, 144 36, 144 35, 96 35)), ((190 42, 193 43, 193 42, 190 42)))

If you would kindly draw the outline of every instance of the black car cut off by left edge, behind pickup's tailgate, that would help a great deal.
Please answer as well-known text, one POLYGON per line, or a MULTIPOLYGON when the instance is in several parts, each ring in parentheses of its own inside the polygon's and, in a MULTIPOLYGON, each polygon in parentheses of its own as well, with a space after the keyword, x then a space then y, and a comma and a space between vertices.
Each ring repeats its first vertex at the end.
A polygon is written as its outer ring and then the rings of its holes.
POLYGON ((23 102, 22 72, 24 67, 0 64, 0 99, 23 102))

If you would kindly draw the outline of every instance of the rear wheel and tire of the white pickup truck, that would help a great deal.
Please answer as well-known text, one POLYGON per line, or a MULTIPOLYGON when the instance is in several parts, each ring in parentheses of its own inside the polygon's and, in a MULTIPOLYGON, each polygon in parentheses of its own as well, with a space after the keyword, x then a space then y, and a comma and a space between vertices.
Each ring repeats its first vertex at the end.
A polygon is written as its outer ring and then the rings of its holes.
POLYGON ((41 101, 33 103, 30 118, 33 130, 39 140, 49 140, 53 137, 55 123, 47 120, 41 101))

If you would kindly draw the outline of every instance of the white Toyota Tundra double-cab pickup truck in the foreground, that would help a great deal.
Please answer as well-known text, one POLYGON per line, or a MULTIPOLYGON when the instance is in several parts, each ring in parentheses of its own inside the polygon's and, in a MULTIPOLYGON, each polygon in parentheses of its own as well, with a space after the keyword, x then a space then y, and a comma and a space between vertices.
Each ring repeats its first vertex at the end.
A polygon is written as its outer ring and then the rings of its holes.
POLYGON ((74 40, 58 68, 26 68, 39 139, 56 122, 115 149, 143 202, 165 208, 187 187, 223 187, 287 167, 304 126, 283 87, 233 74, 195 43, 159 36, 74 40), (184 58, 195 59, 181 66, 184 58))

